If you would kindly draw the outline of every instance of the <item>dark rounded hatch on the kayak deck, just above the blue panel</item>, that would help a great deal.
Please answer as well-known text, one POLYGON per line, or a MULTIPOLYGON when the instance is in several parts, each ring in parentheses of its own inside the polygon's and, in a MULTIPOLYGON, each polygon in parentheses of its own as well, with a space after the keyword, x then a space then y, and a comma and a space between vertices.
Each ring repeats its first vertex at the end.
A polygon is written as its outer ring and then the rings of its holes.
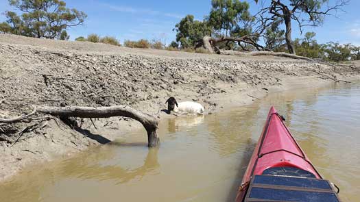
POLYGON ((313 177, 316 178, 313 173, 294 167, 273 167, 267 168, 263 171, 263 175, 284 175, 293 177, 313 177))

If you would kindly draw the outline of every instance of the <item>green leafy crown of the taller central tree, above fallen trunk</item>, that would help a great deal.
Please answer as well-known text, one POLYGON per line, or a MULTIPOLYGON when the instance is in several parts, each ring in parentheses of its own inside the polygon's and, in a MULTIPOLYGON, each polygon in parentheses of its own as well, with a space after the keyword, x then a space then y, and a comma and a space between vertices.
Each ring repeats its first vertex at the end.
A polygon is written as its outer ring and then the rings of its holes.
POLYGON ((249 12, 250 5, 246 1, 212 0, 211 6, 208 23, 218 33, 225 31, 225 36, 234 36, 241 31, 247 32, 248 22, 254 20, 249 12))

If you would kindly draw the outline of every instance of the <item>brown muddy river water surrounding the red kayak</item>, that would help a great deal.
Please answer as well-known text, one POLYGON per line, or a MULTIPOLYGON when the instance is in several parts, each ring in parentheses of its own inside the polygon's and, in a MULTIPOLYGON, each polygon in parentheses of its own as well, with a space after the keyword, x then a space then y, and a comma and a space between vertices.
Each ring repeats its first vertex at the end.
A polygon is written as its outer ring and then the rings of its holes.
POLYGON ((341 199, 359 201, 360 84, 279 92, 243 108, 163 121, 159 149, 147 149, 136 131, 27 168, 0 184, 0 201, 234 201, 270 105, 341 199))

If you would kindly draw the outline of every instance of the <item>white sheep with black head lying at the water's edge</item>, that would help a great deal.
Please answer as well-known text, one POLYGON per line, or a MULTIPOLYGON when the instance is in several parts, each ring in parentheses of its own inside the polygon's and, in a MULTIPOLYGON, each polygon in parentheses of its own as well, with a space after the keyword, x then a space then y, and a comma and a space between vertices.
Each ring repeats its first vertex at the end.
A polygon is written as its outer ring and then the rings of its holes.
POLYGON ((191 114, 203 114, 204 107, 200 103, 195 103, 193 101, 184 101, 181 103, 177 103, 174 97, 170 97, 167 99, 166 103, 168 112, 185 112, 191 114), (175 107, 176 105, 176 107, 175 107))

